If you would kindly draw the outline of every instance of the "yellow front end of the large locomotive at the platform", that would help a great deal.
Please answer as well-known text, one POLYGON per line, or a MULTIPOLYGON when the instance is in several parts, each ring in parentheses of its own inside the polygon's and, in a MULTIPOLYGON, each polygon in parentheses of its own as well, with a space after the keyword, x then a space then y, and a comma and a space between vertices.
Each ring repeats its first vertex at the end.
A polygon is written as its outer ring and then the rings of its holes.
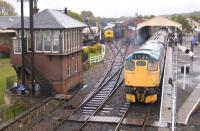
POLYGON ((158 62, 147 60, 127 60, 125 62, 126 99, 130 102, 154 103, 160 84, 158 62))

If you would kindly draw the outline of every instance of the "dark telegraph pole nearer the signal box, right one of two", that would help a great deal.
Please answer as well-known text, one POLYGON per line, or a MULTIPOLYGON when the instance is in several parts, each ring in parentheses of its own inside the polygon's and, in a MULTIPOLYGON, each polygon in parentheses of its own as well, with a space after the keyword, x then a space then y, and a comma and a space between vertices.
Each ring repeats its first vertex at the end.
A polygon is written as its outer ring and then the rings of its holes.
POLYGON ((30 34, 31 34, 31 68, 32 68, 32 95, 35 96, 35 46, 34 46, 34 35, 33 35, 33 0, 29 0, 30 8, 30 34))

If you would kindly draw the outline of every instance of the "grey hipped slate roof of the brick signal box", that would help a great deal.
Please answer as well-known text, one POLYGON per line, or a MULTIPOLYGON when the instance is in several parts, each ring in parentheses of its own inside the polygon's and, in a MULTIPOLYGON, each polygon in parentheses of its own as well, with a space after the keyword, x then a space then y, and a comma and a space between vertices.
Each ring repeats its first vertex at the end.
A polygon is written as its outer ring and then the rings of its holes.
MULTIPOLYGON (((28 29, 29 19, 25 19, 24 27, 28 29)), ((86 27, 84 23, 64 14, 58 10, 45 9, 34 15, 35 29, 69 29, 86 27)), ((9 27, 10 29, 20 29, 21 22, 9 27)))

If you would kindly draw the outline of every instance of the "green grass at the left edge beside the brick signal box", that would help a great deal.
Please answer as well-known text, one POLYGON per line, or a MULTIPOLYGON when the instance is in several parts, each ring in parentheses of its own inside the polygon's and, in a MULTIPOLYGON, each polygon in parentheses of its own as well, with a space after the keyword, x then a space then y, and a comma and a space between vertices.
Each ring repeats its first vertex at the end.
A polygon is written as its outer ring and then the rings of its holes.
POLYGON ((6 78, 10 76, 16 76, 16 72, 10 64, 10 58, 0 58, 0 106, 4 103, 4 93, 6 91, 6 78))

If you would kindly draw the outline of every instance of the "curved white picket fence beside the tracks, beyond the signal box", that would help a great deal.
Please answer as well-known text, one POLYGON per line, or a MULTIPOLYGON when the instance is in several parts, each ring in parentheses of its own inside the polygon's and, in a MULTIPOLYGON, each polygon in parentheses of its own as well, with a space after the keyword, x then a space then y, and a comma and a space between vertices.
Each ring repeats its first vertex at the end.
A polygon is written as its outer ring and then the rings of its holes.
POLYGON ((89 57, 89 62, 90 62, 90 64, 98 63, 98 62, 101 62, 104 59, 104 57, 105 57, 105 45, 102 44, 101 45, 101 54, 89 57))

